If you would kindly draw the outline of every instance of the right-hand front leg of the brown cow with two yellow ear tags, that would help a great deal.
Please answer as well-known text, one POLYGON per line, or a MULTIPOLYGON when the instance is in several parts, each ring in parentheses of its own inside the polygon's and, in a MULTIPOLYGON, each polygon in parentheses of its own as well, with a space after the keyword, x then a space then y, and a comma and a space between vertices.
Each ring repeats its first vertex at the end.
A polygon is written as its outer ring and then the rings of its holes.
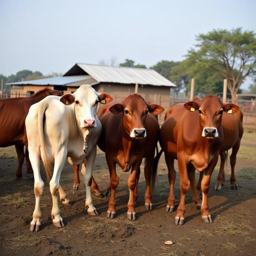
POLYGON ((204 223, 212 223, 212 218, 211 218, 211 215, 209 214, 208 191, 209 191, 211 175, 217 162, 218 162, 218 155, 216 154, 216 156, 212 157, 212 160, 209 163, 207 169, 205 169, 204 177, 201 182, 201 190, 203 194, 201 212, 202 212, 202 220, 204 223))

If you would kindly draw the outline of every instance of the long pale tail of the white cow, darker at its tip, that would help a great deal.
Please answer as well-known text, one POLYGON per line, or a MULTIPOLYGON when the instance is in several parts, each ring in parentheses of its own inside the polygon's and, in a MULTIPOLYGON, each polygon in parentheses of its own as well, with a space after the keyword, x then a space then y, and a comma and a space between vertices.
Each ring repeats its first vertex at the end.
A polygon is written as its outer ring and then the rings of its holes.
POLYGON ((39 103, 38 109, 38 131, 40 138, 40 151, 41 151, 41 159, 44 163, 44 169, 47 175, 47 181, 49 182, 52 179, 52 165, 49 161, 49 157, 47 155, 45 141, 44 141, 44 119, 45 119, 45 111, 47 109, 47 102, 41 101, 39 103))

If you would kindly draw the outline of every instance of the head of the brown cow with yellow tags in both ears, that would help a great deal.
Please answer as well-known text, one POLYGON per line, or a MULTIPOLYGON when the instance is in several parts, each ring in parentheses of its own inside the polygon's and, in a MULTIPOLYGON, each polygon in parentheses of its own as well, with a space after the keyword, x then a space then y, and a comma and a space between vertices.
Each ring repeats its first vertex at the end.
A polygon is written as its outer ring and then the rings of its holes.
POLYGON ((239 110, 239 106, 232 103, 224 104, 215 95, 205 96, 201 101, 187 102, 184 107, 195 114, 198 112, 202 136, 207 139, 218 137, 223 112, 233 114, 239 110))

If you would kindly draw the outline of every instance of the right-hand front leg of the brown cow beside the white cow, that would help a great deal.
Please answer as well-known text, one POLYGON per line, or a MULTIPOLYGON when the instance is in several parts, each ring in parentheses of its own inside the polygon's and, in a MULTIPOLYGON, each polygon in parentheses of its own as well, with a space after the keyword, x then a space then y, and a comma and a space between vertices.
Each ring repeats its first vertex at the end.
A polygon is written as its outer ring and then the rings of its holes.
POLYGON ((134 201, 134 189, 136 187, 137 182, 137 172, 140 169, 140 165, 134 165, 131 167, 131 174, 128 177, 128 188, 130 191, 130 197, 127 204, 128 211, 127 211, 127 218, 129 220, 133 219, 136 220, 136 213, 135 213, 135 201, 134 201))

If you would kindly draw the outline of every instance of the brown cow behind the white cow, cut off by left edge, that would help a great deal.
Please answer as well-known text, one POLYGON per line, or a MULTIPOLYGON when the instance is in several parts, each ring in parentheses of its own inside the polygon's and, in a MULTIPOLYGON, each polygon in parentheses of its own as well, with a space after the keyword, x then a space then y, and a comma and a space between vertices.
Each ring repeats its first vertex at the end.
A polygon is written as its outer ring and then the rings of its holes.
POLYGON ((61 92, 45 88, 28 98, 0 99, 0 147, 15 145, 19 163, 16 180, 22 177, 21 170, 25 158, 24 145, 26 146, 27 173, 33 174, 27 150, 28 141, 25 127, 25 119, 29 113, 29 108, 49 95, 61 96, 61 92))

